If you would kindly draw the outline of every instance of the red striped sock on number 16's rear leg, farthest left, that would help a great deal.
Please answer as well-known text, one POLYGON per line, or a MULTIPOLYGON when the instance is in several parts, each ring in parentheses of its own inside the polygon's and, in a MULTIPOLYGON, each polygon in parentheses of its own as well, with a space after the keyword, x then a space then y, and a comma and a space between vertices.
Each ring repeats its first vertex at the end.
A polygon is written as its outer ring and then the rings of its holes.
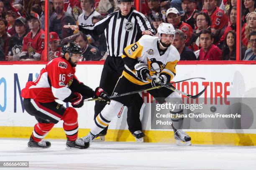
POLYGON ((54 123, 36 123, 32 133, 33 140, 40 142, 53 127, 54 123))

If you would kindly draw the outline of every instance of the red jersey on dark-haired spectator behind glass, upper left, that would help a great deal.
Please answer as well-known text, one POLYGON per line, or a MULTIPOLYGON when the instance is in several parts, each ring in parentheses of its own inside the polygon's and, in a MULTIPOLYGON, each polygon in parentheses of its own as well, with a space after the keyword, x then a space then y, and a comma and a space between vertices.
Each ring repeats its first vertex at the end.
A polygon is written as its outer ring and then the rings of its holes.
MULTIPOLYGON (((35 37, 32 38, 32 32, 23 38, 22 52, 30 58, 39 58, 44 50, 44 30, 38 30, 35 37)), ((22 54, 21 54, 22 55, 22 54)))

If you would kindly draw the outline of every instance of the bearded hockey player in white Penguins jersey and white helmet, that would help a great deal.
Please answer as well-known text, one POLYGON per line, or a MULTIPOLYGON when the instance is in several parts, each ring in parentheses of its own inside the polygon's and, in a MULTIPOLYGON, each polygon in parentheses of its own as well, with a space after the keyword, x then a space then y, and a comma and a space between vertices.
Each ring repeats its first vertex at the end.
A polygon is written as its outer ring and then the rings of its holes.
MULTIPOLYGON (((161 23, 158 28, 158 37, 143 35, 138 42, 128 45, 123 50, 123 62, 125 68, 119 78, 113 94, 123 94, 141 89, 147 89, 159 85, 160 82, 169 83, 176 75, 175 67, 180 59, 179 52, 171 45, 175 30, 172 24, 161 23), (150 80, 148 77, 151 77, 150 80)), ((181 103, 181 96, 167 88, 161 87, 148 91, 159 102, 163 99, 178 99, 175 102, 181 103)), ((111 100, 102 112, 95 118, 90 133, 83 137, 84 142, 91 142, 115 115, 123 105, 130 106, 133 95, 115 97, 111 100)), ((173 110, 174 115, 183 114, 183 110, 173 110)), ((191 145, 191 138, 181 130, 183 119, 181 116, 172 118, 174 138, 178 145, 191 145)))

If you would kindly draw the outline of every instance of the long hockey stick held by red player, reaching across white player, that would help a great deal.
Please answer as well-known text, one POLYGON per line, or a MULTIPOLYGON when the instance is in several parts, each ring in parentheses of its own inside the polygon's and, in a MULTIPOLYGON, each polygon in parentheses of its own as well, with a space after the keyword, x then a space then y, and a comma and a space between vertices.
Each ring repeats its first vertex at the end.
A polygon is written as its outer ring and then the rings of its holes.
MULTIPOLYGON (((205 80, 205 78, 203 77, 194 77, 194 78, 189 78, 189 79, 185 79, 185 80, 180 80, 180 81, 177 81, 177 82, 170 82, 168 83, 167 85, 172 85, 172 84, 175 84, 175 83, 178 83, 178 82, 184 82, 184 81, 187 81, 187 80, 192 80, 192 79, 196 79, 196 78, 199 78, 199 79, 203 79, 205 80)), ((138 92, 145 92, 145 91, 148 91, 148 90, 153 90, 153 89, 156 89, 156 88, 160 88, 160 87, 164 87, 164 86, 156 86, 156 87, 151 87, 151 88, 148 88, 148 89, 142 89, 142 90, 137 90, 137 91, 133 91, 133 92, 126 92, 126 93, 123 93, 123 94, 120 94, 120 95, 115 95, 115 96, 110 96, 110 99, 112 98, 115 98, 115 97, 121 97, 121 96, 125 96, 125 95, 132 95, 132 94, 135 94, 135 93, 138 93, 138 92)), ((175 89, 176 90, 176 89, 175 89)), ((205 91, 205 90, 204 90, 205 91)), ((201 92, 200 92, 201 93, 201 92)), ((200 94, 199 93, 199 94, 200 94)), ((202 95, 202 94, 200 94, 202 95)), ((199 96, 200 96, 199 95, 199 96)), ((198 97, 199 97, 198 96, 198 97)), ((103 100, 102 98, 96 98, 96 99, 85 99, 84 102, 87 102, 87 101, 95 101, 95 100, 103 100)))

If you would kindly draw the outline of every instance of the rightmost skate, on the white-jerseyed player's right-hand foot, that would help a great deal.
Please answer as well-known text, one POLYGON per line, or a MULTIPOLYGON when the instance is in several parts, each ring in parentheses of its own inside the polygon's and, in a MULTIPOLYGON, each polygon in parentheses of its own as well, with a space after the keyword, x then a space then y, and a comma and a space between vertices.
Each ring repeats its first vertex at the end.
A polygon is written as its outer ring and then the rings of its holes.
POLYGON ((174 139, 176 140, 177 145, 191 145, 190 136, 181 129, 174 129, 174 139))

